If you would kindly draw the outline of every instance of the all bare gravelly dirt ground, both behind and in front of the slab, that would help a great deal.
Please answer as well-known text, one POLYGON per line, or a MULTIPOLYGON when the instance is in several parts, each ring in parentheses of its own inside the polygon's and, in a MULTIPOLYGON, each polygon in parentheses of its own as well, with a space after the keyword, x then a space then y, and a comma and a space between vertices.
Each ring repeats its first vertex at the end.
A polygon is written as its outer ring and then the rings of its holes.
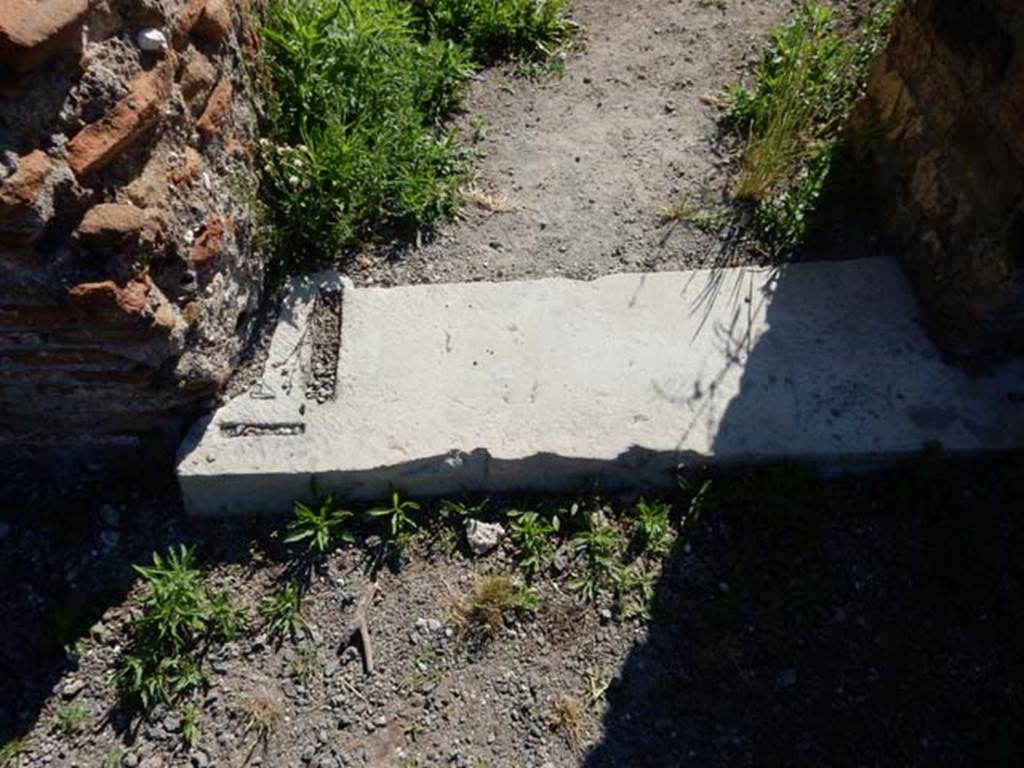
MULTIPOLYGON (((466 218, 420 249, 368 254, 353 276, 715 263, 717 236, 662 224, 659 211, 727 188, 703 96, 734 82, 796 5, 575 0, 585 45, 562 75, 490 71, 474 84, 464 129, 478 135, 480 195, 466 218)), ((843 255, 878 248, 848 231, 837 242, 843 255)), ((32 768, 1021 764, 1021 468, 923 459, 827 481, 716 478, 720 504, 654 566, 648 618, 607 595, 582 601, 569 549, 535 581, 536 612, 483 642, 459 632, 453 600, 513 570, 514 549, 473 557, 459 526, 428 525, 380 572, 373 675, 348 644, 372 539, 313 571, 307 633, 279 644, 254 608, 295 564, 283 520, 185 518, 170 477, 80 487, 60 504, 28 496, 0 513, 0 749, 18 739, 11 765, 32 768), (211 650, 191 746, 179 713, 133 718, 113 682, 138 609, 131 566, 179 542, 253 615, 211 650), (279 713, 265 739, 248 721, 257 706, 279 713)), ((636 500, 612 501, 628 525, 636 500)), ((687 512, 684 497, 669 501, 677 519, 687 512)), ((509 509, 564 503, 487 509, 507 523, 509 509)))

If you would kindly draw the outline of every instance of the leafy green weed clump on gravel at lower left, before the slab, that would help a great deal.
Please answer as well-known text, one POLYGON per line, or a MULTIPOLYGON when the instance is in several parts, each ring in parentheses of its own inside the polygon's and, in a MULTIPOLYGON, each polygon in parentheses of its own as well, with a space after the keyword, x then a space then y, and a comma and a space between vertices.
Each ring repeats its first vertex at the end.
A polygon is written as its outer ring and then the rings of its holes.
POLYGON ((236 637, 247 616, 226 591, 210 586, 183 545, 166 555, 154 553, 151 566, 134 567, 145 592, 141 613, 129 628, 117 683, 126 703, 148 710, 158 702, 174 705, 201 688, 207 650, 236 637))

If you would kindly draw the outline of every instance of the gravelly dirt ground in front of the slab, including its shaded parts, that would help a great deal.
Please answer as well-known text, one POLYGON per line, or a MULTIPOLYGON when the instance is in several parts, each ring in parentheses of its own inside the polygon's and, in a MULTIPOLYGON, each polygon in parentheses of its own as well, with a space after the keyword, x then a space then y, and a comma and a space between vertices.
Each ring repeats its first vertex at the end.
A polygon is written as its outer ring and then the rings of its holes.
MULTIPOLYGON (((581 600, 563 544, 534 580, 536 611, 482 641, 452 606, 480 574, 514 570, 514 547, 474 557, 461 525, 425 508, 435 522, 377 580, 372 675, 348 630, 373 538, 317 566, 307 631, 278 643, 255 606, 296 565, 273 532, 284 520, 182 518, 170 482, 108 488, 108 504, 2 531, 0 742, 22 737, 11 765, 61 768, 1017 765, 1022 468, 925 456, 824 481, 795 466, 718 476, 695 520, 669 499, 679 532, 649 618, 607 593, 581 600), (180 713, 131 717, 113 684, 138 610, 131 564, 177 542, 252 616, 210 652, 190 748, 180 713), (256 706, 278 713, 263 740, 256 706)), ((628 526, 635 498, 610 501, 628 526)), ((486 516, 563 504, 494 499, 486 516)))

